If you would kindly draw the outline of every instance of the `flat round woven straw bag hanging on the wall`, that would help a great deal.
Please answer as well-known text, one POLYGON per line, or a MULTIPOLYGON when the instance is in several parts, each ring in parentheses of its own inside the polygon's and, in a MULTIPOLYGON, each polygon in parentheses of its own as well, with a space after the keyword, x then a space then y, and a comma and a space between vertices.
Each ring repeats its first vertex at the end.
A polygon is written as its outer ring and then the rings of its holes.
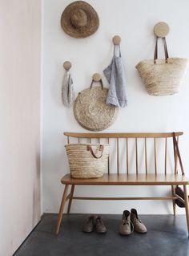
POLYGON ((107 105, 107 88, 83 90, 74 101, 74 117, 83 128, 102 131, 115 123, 119 108, 107 105))

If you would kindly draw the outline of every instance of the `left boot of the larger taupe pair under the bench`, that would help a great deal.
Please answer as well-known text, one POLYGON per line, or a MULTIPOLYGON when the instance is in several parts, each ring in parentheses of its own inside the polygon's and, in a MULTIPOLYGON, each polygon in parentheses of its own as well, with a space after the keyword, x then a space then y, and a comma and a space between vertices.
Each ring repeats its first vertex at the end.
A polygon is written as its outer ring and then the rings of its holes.
POLYGON ((119 226, 119 234, 128 235, 133 233, 133 224, 131 222, 130 212, 125 210, 123 211, 122 222, 119 226))

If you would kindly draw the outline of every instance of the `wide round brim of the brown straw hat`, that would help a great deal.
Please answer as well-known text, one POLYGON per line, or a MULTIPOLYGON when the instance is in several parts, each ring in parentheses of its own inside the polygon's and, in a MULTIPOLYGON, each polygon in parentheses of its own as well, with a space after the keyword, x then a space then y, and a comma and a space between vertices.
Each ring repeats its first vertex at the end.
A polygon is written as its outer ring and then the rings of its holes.
POLYGON ((61 26, 62 30, 67 35, 74 37, 76 39, 83 39, 87 36, 94 34, 96 30, 99 28, 99 16, 90 4, 83 1, 76 1, 70 3, 69 6, 66 6, 65 10, 61 16, 61 26), (82 9, 85 11, 87 16, 87 24, 86 26, 82 27, 82 29, 77 29, 71 23, 71 14, 74 10, 82 9))

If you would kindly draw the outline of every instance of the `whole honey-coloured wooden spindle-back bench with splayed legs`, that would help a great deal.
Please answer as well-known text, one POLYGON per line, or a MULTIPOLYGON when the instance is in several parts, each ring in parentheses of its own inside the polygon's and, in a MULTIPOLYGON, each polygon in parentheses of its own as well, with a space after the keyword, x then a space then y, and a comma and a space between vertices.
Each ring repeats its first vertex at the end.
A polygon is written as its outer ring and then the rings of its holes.
MULTIPOLYGON (((110 139, 116 140, 116 157, 117 157, 117 173, 110 173, 110 157, 108 160, 108 173, 104 174, 102 178, 98 179, 74 179, 70 177, 70 174, 66 174, 61 179, 61 183, 65 185, 62 195, 62 201, 58 213, 58 220, 55 233, 58 234, 62 221, 62 213, 66 201, 68 202, 67 213, 70 213, 70 207, 72 200, 171 200, 173 204, 173 213, 176 215, 175 199, 179 199, 185 203, 185 211, 187 218, 187 230, 189 234, 189 208, 188 208, 188 196, 187 185, 189 185, 189 179, 185 177, 183 172, 183 164, 179 153, 179 136, 183 135, 183 132, 164 132, 164 133, 75 133, 64 132, 67 136, 67 143, 70 143, 70 137, 78 138, 78 143, 81 139, 86 138, 89 143, 92 143, 92 139, 98 139, 99 143, 101 139, 107 139, 107 143, 110 143, 110 139), (147 139, 154 139, 154 158, 155 158, 155 173, 148 173, 147 169, 147 139), (165 168, 164 173, 159 174, 157 169, 157 149, 156 140, 163 138, 165 140, 165 168), (172 138, 174 159, 175 159, 175 171, 173 174, 167 173, 167 139, 172 138), (127 162, 126 173, 119 172, 119 139, 125 139, 127 145, 127 162), (129 173, 129 157, 128 157, 128 140, 135 139, 135 169, 136 173, 129 173), (139 173, 138 171, 138 139, 144 139, 144 156, 145 156, 145 168, 146 173, 139 173), (182 171, 182 175, 178 174, 178 162, 182 171), (69 186, 70 193, 68 193, 69 186), (171 197, 75 197, 74 188, 76 185, 171 185, 171 197), (175 194, 175 186, 183 185, 184 200, 175 194)), ((94 142, 96 143, 96 142, 94 142)))

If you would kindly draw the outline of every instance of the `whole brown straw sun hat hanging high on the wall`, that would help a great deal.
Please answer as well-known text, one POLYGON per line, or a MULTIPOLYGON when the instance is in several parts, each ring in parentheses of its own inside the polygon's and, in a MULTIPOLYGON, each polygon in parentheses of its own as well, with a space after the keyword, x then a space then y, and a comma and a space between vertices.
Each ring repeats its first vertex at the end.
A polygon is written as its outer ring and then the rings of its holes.
POLYGON ((98 29, 99 16, 87 2, 71 2, 62 13, 61 26, 66 34, 76 39, 86 38, 98 29))

